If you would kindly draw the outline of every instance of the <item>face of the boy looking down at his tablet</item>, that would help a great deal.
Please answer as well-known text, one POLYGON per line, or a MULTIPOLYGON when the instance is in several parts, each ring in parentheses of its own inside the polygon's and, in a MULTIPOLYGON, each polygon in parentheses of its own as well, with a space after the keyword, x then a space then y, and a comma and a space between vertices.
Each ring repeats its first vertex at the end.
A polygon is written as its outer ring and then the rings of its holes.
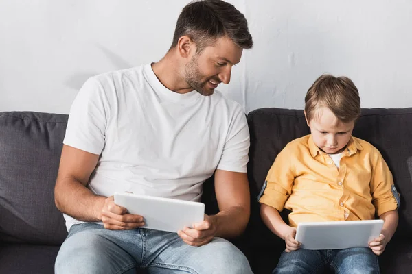
POLYGON ((313 115, 311 121, 306 119, 314 144, 325 153, 341 153, 352 136, 354 121, 342 123, 330 109, 325 107, 321 107, 315 112, 317 113, 313 115))

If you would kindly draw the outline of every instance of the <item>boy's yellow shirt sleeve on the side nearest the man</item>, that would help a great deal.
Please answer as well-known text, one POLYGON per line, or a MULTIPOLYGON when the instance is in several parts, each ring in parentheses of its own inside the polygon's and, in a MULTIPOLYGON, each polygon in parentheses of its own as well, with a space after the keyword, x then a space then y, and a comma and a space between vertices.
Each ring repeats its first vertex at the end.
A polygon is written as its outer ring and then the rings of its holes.
POLYGON ((258 197, 260 203, 271 206, 279 212, 284 209, 295 179, 295 172, 291 165, 291 154, 289 145, 286 145, 277 155, 268 172, 261 195, 258 197))

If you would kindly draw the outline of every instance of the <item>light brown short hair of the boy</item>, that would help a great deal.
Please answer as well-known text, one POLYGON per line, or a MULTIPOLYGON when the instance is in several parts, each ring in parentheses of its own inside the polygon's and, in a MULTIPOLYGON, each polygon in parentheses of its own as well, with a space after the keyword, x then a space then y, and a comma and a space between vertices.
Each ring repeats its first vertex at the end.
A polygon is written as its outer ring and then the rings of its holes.
POLYGON ((350 123, 361 116, 361 98, 354 82, 347 77, 321 75, 308 89, 305 111, 308 122, 319 107, 333 112, 338 122, 350 123))

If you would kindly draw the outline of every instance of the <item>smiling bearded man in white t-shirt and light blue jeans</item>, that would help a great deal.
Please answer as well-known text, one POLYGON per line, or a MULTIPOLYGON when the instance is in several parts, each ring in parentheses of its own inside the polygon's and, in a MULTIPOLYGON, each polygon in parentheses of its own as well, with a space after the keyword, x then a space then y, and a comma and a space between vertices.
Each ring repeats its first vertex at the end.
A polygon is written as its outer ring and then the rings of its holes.
POLYGON ((233 5, 183 8, 172 46, 157 63, 87 80, 70 110, 55 188, 69 236, 56 273, 251 273, 223 238, 249 220, 249 131, 228 84, 253 45, 233 5), (220 212, 178 234, 141 229, 144 216, 115 205, 114 192, 200 201, 215 173, 220 212))

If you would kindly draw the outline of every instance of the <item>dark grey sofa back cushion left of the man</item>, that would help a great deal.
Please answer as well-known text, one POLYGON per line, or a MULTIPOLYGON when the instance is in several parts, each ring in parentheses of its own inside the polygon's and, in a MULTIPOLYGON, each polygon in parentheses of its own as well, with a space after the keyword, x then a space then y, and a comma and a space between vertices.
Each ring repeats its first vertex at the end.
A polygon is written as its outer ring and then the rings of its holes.
POLYGON ((67 115, 0 113, 0 241, 59 245, 66 229, 54 204, 67 115))

